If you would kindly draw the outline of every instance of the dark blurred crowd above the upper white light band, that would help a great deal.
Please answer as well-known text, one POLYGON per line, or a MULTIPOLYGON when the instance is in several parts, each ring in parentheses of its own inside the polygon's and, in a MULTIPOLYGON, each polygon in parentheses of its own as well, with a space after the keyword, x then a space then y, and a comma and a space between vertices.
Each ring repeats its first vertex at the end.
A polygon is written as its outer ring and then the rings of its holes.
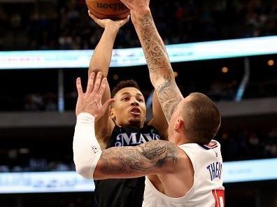
MULTIPOLYGON (((276 0, 152 0, 150 8, 166 44, 277 34, 276 0)), ((85 0, 4 1, 0 25, 0 50, 92 49, 102 33, 85 0)), ((127 24, 115 47, 135 46, 138 38, 127 24)))

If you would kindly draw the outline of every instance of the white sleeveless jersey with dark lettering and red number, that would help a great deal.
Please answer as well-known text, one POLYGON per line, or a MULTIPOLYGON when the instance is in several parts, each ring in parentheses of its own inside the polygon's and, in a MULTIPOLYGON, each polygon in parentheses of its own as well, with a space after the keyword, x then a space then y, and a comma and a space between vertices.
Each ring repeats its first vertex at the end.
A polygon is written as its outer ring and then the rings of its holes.
POLYGON ((159 192, 145 178, 143 207, 224 207, 224 187, 220 143, 188 143, 179 146, 194 169, 194 183, 184 197, 172 198, 159 192))

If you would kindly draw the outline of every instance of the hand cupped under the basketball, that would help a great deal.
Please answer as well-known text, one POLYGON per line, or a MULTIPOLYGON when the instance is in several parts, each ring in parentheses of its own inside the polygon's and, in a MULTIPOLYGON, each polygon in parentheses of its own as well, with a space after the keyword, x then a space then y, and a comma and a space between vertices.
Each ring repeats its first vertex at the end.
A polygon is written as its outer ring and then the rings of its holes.
POLYGON ((129 21, 130 15, 128 15, 123 20, 110 20, 110 19, 99 19, 96 16, 94 16, 90 10, 87 10, 88 14, 96 22, 100 27, 106 28, 106 27, 115 27, 115 29, 120 29, 124 24, 126 24, 129 21))

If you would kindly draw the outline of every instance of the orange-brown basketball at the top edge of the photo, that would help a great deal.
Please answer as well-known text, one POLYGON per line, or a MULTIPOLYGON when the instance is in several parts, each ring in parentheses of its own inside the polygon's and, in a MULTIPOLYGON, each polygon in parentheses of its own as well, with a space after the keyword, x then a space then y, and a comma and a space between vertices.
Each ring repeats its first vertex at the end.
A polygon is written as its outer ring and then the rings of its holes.
POLYGON ((130 10, 120 0, 86 0, 87 8, 99 19, 122 20, 130 10))

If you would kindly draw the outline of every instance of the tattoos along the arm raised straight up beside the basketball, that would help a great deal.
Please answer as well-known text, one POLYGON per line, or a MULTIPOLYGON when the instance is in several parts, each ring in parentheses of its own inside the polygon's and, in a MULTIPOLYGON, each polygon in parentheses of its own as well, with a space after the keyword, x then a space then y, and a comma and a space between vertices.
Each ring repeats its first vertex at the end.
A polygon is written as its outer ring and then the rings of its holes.
POLYGON ((148 64, 150 78, 156 83, 159 103, 162 106, 167 122, 169 122, 173 111, 183 99, 183 96, 175 83, 166 48, 150 14, 141 19, 138 33, 148 64), (164 78, 164 83, 157 85, 155 81, 160 77, 164 78))

